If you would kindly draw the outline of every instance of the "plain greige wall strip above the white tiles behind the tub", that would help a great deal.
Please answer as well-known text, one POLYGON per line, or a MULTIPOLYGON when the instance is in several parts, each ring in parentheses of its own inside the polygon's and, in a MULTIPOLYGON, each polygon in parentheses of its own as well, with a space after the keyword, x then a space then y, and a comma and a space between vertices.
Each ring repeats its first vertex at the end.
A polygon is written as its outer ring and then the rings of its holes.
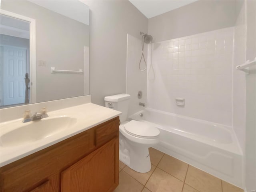
POLYGON ((154 42, 234 26, 236 4, 232 0, 199 0, 148 21, 154 42))

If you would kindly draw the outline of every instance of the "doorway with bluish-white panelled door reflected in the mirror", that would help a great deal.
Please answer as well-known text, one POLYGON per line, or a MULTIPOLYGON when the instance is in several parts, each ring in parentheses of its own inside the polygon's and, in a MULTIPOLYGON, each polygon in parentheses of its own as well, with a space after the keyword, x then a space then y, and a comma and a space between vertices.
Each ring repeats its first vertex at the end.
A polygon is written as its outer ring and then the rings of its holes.
POLYGON ((0 22, 1 106, 29 103, 30 24, 5 15, 0 22))

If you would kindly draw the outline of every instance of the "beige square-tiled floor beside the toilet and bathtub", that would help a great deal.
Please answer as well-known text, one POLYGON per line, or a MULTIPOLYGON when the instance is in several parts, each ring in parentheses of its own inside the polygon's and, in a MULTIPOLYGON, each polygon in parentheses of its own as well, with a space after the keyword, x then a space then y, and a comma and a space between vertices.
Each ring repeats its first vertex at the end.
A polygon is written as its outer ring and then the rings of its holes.
POLYGON ((149 153, 152 168, 148 173, 120 162, 119 186, 114 192, 244 192, 154 148, 149 153))

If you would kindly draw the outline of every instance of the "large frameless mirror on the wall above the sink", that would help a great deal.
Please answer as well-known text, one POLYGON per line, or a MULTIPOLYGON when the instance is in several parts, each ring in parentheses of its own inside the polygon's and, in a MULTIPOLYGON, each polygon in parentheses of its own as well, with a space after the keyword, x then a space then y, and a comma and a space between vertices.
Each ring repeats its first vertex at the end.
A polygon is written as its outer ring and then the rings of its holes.
POLYGON ((89 7, 1 0, 1 108, 89 94, 89 7))

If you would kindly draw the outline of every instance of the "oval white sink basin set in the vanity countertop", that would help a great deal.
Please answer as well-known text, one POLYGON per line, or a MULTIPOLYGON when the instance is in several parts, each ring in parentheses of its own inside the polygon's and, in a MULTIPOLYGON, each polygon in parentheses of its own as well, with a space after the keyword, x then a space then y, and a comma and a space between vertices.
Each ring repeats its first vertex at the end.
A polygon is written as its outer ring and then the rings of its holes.
POLYGON ((76 123, 76 118, 68 116, 48 117, 41 120, 27 123, 15 122, 6 124, 5 130, 10 130, 1 135, 0 141, 2 147, 19 146, 23 144, 32 144, 38 140, 48 138, 67 128, 71 128, 76 123))

